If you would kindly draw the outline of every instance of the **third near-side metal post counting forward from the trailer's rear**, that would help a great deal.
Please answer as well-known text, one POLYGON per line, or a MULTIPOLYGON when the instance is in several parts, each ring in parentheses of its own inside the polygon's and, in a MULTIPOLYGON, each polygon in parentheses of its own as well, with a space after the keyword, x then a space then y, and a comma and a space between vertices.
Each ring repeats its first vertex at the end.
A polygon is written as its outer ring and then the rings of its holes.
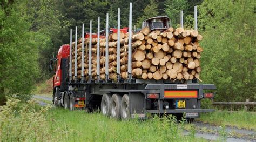
POLYGON ((106 58, 105 58, 105 76, 106 82, 109 81, 109 13, 106 15, 106 58))

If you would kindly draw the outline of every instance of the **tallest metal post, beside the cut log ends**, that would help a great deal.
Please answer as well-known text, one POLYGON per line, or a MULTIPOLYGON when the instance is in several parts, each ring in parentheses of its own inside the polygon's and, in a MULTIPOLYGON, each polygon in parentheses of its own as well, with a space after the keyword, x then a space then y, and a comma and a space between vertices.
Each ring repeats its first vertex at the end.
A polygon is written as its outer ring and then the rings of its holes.
POLYGON ((128 39, 128 79, 132 79, 132 3, 130 3, 129 12, 129 39, 128 39))

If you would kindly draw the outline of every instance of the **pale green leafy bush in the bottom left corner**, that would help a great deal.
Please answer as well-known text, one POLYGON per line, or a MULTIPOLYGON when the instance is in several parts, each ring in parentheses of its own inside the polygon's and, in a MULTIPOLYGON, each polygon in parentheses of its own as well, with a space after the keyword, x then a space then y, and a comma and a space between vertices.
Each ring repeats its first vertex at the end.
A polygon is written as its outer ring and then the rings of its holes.
POLYGON ((45 117, 50 105, 39 107, 35 100, 20 102, 11 98, 0 106, 0 141, 55 141, 61 136, 62 131, 52 129, 53 121, 45 117), (58 134, 53 137, 52 133, 58 134))

